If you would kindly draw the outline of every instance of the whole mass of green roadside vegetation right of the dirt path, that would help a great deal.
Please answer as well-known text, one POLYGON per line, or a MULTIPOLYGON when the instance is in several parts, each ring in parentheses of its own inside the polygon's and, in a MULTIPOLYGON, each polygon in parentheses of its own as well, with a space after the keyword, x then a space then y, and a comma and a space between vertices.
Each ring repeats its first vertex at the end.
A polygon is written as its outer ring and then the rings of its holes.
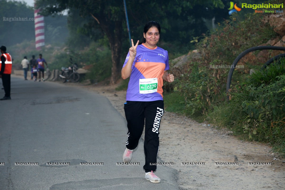
MULTIPOLYGON (((165 89, 174 89, 166 94, 166 110, 229 128, 241 139, 270 143, 274 151, 285 156, 285 60, 276 60, 262 71, 259 70, 264 62, 239 61, 237 65, 244 68, 233 73, 229 101, 229 69, 210 68, 231 65, 244 50, 276 36, 261 14, 249 14, 242 20, 234 15, 225 20, 196 44, 199 60, 189 61, 184 66, 188 69, 176 77, 175 83, 166 84, 165 89), (255 73, 250 75, 250 69, 255 73)), ((258 53, 253 52, 252 56, 258 53)), ((172 62, 171 68, 175 64, 172 62)))

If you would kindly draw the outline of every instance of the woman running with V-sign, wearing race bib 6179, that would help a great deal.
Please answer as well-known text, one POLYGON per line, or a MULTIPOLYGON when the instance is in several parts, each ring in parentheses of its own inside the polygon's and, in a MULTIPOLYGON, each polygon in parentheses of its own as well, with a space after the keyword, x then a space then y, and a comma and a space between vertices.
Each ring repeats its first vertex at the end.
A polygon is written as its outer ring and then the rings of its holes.
POLYGON ((173 74, 168 74, 168 52, 156 46, 160 37, 160 25, 150 21, 144 26, 143 43, 139 40, 132 47, 122 68, 122 78, 130 77, 126 103, 124 106, 127 119, 128 140, 123 161, 129 163, 133 150, 141 138, 144 124, 145 179, 159 183, 156 171, 156 157, 159 146, 160 120, 164 113, 162 96, 163 80, 174 81, 173 74))

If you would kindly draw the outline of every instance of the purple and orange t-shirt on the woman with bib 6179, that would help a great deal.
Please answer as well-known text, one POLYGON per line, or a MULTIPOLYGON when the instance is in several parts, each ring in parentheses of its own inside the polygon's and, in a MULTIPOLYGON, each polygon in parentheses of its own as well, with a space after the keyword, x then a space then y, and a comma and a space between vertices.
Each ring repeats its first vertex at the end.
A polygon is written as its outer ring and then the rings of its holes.
MULTIPOLYGON (((128 62, 128 53, 123 67, 128 62)), ((163 100, 162 75, 169 70, 168 52, 160 47, 148 48, 141 44, 137 46, 137 55, 132 65, 130 81, 127 89, 128 101, 156 101, 163 100), (157 78, 157 91, 153 93, 140 93, 139 79, 157 78)))

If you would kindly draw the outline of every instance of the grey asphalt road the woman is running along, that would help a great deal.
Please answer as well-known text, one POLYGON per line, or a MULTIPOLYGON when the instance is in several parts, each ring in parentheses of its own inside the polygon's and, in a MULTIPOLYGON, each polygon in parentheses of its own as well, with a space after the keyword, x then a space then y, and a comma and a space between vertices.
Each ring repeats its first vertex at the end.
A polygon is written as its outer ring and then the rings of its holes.
POLYGON ((0 108, 1 190, 178 189, 177 171, 166 166, 156 171, 160 183, 144 179, 143 141, 131 160, 139 166, 116 165, 123 162, 126 121, 97 93, 12 77, 11 100, 0 108), (20 162, 38 165, 15 165, 20 162))

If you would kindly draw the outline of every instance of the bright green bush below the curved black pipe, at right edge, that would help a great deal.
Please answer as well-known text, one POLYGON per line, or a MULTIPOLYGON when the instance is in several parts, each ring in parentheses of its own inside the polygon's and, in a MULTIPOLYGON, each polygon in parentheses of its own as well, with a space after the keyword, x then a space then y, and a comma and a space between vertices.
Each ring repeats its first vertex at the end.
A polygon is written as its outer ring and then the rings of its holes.
POLYGON ((207 120, 247 140, 270 142, 285 156, 285 75, 279 73, 284 65, 285 60, 246 79, 241 91, 231 93, 232 99, 215 107, 207 120))

